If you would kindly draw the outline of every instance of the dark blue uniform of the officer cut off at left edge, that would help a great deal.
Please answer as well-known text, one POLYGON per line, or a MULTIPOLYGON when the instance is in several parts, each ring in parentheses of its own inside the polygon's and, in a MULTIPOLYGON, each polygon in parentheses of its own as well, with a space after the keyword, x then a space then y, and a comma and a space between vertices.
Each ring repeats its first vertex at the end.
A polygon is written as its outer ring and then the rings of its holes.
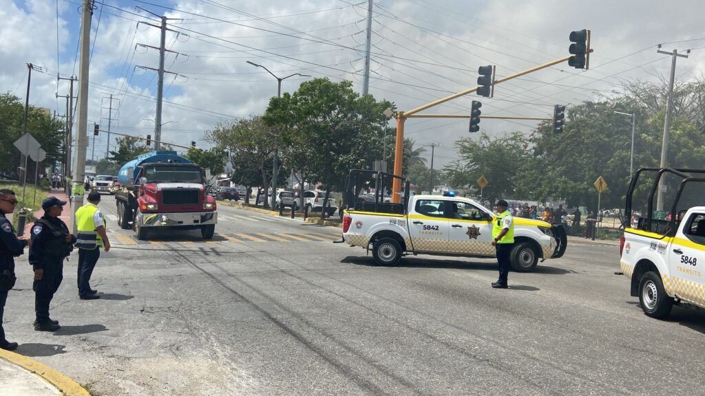
POLYGON ((0 211, 0 346, 8 344, 2 318, 7 301, 7 292, 15 285, 15 257, 20 256, 27 246, 26 240, 18 240, 12 223, 0 211))

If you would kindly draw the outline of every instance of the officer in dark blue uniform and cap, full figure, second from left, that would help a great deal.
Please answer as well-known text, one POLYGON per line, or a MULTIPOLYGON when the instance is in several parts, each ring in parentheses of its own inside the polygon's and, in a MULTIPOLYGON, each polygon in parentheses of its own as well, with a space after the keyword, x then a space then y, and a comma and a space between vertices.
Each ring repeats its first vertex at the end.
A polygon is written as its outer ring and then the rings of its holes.
POLYGON ((59 321, 49 318, 49 304, 63 280, 63 259, 73 250, 76 237, 71 235, 59 216, 66 201, 48 197, 42 201, 44 216, 32 225, 30 264, 35 271, 35 330, 56 331, 59 321))

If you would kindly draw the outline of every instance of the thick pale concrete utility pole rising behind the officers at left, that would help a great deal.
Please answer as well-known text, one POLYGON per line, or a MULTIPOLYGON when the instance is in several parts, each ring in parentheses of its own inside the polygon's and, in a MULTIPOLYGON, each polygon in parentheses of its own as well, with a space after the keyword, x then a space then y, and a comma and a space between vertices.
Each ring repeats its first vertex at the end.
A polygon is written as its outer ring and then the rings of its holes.
MULTIPOLYGON (((81 37, 80 37, 80 67, 78 68, 78 133, 76 134, 76 150, 74 154, 75 168, 73 182, 83 182, 86 166, 86 148, 88 142, 88 66, 90 63, 90 23, 93 16, 93 0, 82 1, 81 37)), ((83 205, 82 195, 71 195, 73 233, 76 233, 75 213, 83 205)))

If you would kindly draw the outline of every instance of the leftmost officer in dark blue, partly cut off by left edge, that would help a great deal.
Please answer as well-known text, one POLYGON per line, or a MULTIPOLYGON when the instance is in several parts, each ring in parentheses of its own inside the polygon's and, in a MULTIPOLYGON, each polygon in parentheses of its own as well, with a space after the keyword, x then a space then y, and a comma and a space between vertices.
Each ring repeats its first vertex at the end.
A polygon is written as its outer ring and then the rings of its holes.
POLYGON ((9 342, 2 328, 7 293, 15 285, 15 257, 23 253, 25 246, 31 243, 26 237, 16 237, 12 223, 5 217, 6 213, 15 211, 17 199, 13 190, 0 190, 0 348, 13 351, 17 342, 9 342))

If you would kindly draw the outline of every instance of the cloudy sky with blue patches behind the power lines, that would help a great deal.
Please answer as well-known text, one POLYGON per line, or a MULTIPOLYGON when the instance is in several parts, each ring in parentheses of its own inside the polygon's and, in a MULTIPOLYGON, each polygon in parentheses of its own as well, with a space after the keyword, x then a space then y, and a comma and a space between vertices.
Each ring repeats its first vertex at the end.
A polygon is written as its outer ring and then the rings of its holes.
MULTIPOLYGON (((667 74, 670 51, 692 49, 678 59, 678 78, 701 75, 705 32, 696 16, 705 1, 654 0, 375 0, 369 92, 409 110, 473 87, 477 67, 493 64, 503 76, 568 54, 571 30, 592 30, 590 70, 567 63, 505 82, 494 99, 482 99, 485 115, 550 117, 554 104, 578 104, 609 96, 623 80, 656 80, 667 74)), ((252 61, 285 77, 293 73, 352 80, 362 92, 365 18, 363 0, 105 0, 92 18, 89 123, 106 129, 113 94, 112 130, 154 137, 159 16, 169 20, 164 78, 162 140, 189 144, 219 121, 262 113, 276 95, 276 80, 252 61), (148 12, 149 11, 149 12, 148 12)), ((63 115, 68 94, 63 76, 78 75, 80 0, 0 0, 0 92, 25 98, 26 63, 32 72, 30 104, 63 115)), ((283 92, 302 80, 288 78, 283 92)), ((427 112, 463 113, 474 94, 427 112)), ((483 120, 491 134, 528 133, 535 123, 483 120)), ((436 167, 455 158, 453 142, 467 137, 467 120, 408 120, 417 144, 436 142, 436 167)), ((95 142, 105 155, 106 136, 95 142)), ((114 145, 114 138, 113 142, 114 145)), ((429 150, 430 156, 430 150, 429 150)), ((88 150, 91 158, 91 148, 88 150)), ((430 159, 430 158, 429 158, 430 159)))

